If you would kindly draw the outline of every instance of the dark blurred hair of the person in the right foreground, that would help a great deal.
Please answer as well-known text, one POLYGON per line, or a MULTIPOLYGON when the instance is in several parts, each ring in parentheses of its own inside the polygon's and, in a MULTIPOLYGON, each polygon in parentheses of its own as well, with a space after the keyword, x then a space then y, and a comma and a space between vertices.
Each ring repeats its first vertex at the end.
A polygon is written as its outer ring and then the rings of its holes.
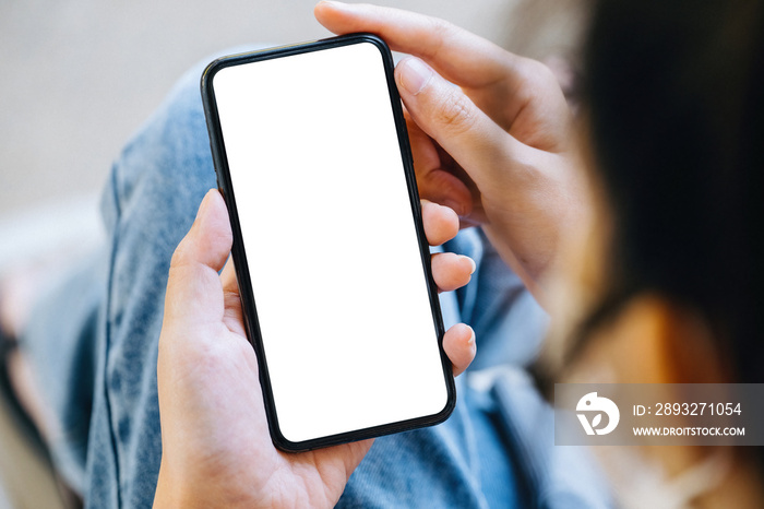
POLYGON ((588 328, 643 292, 697 311, 764 381, 764 2, 602 0, 584 107, 613 232, 588 328))

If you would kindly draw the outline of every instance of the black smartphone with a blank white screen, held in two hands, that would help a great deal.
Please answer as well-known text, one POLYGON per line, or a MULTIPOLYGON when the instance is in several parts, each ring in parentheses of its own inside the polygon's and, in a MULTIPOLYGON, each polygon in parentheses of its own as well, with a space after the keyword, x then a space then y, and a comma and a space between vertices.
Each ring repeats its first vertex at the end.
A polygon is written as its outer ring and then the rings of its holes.
POLYGON ((353 34, 212 62, 202 96, 274 443, 433 425, 455 403, 385 43, 353 34))

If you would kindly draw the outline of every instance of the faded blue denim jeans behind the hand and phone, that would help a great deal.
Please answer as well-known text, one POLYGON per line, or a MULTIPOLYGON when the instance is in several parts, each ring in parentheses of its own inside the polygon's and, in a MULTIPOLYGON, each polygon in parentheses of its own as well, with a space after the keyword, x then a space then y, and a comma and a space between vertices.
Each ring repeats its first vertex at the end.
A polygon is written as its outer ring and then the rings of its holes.
MULTIPOLYGON (((153 501, 167 273, 216 186, 201 70, 181 79, 115 163, 103 198, 106 246, 40 303, 22 338, 57 418, 55 463, 87 507, 153 501)), ((463 230, 445 249, 477 262, 469 285, 441 297, 446 327, 465 321, 478 342, 457 378, 456 410, 439 426, 378 439, 338 506, 607 505, 587 458, 554 448, 550 409, 522 371, 544 335, 544 312, 479 230, 463 230)))

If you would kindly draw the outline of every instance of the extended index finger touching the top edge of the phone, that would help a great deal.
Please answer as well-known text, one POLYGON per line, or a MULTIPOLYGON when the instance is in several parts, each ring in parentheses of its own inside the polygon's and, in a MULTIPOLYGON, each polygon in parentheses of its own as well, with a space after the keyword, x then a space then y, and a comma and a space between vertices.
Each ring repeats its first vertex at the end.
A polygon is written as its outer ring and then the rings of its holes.
POLYGON ((512 79, 522 58, 438 17, 370 4, 321 1, 315 19, 335 34, 371 32, 394 51, 415 55, 459 86, 512 79), (509 71, 509 72, 508 72, 509 71))

